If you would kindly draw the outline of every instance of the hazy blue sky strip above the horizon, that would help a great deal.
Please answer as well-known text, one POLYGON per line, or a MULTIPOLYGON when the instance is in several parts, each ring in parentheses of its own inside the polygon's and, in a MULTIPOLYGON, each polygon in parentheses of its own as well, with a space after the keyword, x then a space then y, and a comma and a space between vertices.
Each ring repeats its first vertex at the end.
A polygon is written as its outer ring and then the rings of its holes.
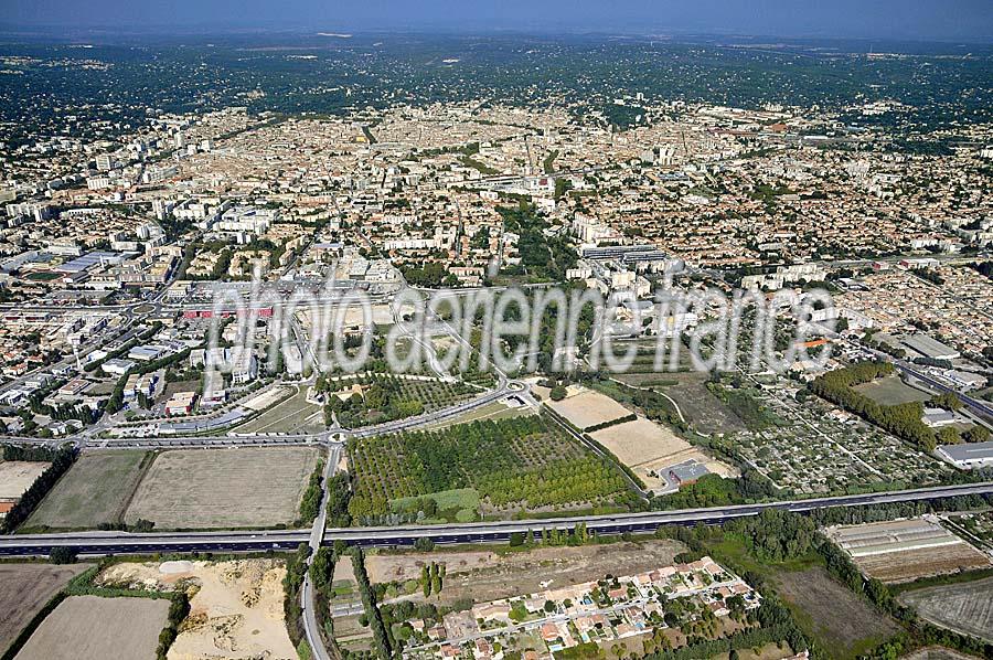
POLYGON ((615 32, 993 43, 993 0, 0 0, 6 28, 615 32))

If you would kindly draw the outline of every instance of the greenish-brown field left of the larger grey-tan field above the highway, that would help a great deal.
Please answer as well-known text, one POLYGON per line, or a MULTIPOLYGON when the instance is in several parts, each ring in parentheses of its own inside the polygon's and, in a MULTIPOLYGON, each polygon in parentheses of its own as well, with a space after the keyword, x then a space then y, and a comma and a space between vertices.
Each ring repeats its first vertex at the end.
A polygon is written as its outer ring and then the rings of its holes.
POLYGON ((147 451, 87 451, 24 522, 24 530, 84 529, 120 522, 154 459, 147 451))

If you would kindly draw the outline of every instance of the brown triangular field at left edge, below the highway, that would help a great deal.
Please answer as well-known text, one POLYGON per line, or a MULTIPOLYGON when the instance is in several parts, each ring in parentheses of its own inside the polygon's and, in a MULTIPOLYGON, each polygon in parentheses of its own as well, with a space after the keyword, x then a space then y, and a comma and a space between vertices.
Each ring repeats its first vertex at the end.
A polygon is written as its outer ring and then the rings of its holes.
POLYGON ((0 653, 65 584, 87 564, 0 564, 0 653))

